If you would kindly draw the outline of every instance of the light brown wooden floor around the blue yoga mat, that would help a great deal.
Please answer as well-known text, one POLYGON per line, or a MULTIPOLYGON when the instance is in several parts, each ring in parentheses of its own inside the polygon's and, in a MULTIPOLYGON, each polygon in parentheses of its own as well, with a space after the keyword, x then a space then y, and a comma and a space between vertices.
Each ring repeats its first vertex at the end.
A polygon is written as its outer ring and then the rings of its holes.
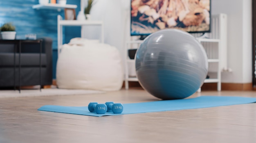
MULTIPOLYGON (((256 91, 200 95, 255 97, 256 91)), ((91 95, 0 99, 0 143, 256 143, 256 103, 107 117, 37 111, 46 104, 136 103, 157 98, 132 88, 91 95)))

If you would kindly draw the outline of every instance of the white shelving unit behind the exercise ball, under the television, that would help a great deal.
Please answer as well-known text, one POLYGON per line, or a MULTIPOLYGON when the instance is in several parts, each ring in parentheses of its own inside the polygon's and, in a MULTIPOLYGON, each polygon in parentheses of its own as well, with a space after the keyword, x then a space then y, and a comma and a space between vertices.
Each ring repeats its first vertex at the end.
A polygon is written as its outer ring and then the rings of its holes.
MULTIPOLYGON (((215 47, 217 48, 217 50, 219 51, 219 55, 221 54, 220 52, 220 39, 208 39, 208 38, 197 38, 198 41, 200 43, 202 42, 214 42, 214 43, 218 43, 218 46, 215 47)), ((142 40, 138 40, 138 41, 128 41, 126 43, 126 58, 125 58, 125 68, 126 68, 126 71, 125 71, 125 89, 129 89, 128 87, 128 82, 129 81, 138 81, 137 77, 130 77, 129 76, 129 69, 128 69, 128 64, 129 63, 132 63, 134 64, 135 63, 135 60, 133 59, 130 59, 129 56, 128 56, 128 50, 129 49, 133 49, 131 48, 131 44, 137 44, 137 48, 139 48, 139 45, 142 43, 143 41, 142 40)), ((221 56, 218 56, 219 58, 215 58, 215 59, 211 59, 209 58, 208 59, 208 63, 218 63, 218 69, 217 69, 217 78, 209 78, 209 79, 205 79, 204 80, 204 83, 212 83, 212 82, 217 82, 217 90, 218 91, 221 91, 221 69, 220 69, 220 57, 221 56)), ((134 64, 135 66, 135 64, 134 64)), ((201 89, 198 89, 198 92, 200 92, 201 89)))

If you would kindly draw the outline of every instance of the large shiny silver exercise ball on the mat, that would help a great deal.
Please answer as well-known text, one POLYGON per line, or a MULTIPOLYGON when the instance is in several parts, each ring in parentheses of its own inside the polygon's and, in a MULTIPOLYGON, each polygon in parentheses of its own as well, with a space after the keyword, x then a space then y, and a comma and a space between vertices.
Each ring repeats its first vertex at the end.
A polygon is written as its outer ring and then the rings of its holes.
POLYGON ((173 100, 187 98, 204 83, 207 54, 188 32, 165 29, 144 39, 135 55, 140 85, 151 95, 173 100))

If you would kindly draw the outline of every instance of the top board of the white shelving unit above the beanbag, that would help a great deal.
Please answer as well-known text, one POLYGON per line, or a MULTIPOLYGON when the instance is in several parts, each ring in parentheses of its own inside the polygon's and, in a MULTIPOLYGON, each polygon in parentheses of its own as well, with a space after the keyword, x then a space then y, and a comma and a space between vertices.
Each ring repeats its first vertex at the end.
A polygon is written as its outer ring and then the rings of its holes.
POLYGON ((62 26, 81 26, 81 25, 102 25, 102 21, 90 20, 60 20, 59 24, 62 26))

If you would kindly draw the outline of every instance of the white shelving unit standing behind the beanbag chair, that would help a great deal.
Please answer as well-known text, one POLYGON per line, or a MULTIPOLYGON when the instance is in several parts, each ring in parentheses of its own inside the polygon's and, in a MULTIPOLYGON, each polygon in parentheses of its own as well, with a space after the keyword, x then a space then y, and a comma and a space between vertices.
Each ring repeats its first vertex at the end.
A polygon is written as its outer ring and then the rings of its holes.
POLYGON ((101 26, 101 42, 104 43, 104 26, 102 21, 91 20, 63 20, 61 15, 58 15, 58 54, 60 53, 63 43, 63 26, 81 26, 81 38, 84 38, 84 26, 101 26))

